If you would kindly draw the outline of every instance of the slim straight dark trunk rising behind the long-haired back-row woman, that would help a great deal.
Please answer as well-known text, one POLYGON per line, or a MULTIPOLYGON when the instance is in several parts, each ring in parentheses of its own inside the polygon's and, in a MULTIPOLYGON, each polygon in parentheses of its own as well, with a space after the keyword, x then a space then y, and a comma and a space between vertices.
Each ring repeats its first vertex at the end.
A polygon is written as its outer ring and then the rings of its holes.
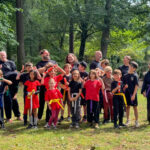
POLYGON ((69 53, 74 53, 73 42, 74 42, 73 19, 70 18, 70 26, 69 26, 69 53))

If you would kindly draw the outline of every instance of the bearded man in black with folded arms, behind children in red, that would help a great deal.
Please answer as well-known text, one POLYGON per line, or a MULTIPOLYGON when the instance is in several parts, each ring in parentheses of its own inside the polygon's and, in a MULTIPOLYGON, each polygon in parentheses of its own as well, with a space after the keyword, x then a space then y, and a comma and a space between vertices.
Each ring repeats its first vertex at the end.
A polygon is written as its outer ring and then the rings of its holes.
MULTIPOLYGON (((50 59, 50 53, 46 49, 41 50, 40 55, 41 55, 42 60, 36 64, 36 67, 37 67, 38 71, 42 74, 47 70, 48 67, 52 66, 53 64, 56 64, 56 61, 50 59)), ((42 118, 43 111, 44 111, 45 90, 46 90, 45 86, 41 86, 40 96, 39 96, 40 107, 38 109, 38 119, 42 118)), ((50 116, 50 111, 48 108, 46 111, 46 118, 47 118, 46 122, 48 122, 47 120, 48 120, 49 116, 50 116)))

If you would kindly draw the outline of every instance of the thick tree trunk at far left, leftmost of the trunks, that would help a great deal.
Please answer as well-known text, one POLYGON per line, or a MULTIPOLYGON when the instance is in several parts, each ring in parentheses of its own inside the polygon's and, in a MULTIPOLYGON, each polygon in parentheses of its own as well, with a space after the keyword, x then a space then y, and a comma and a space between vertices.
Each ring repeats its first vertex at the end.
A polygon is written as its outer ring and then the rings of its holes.
MULTIPOLYGON (((16 7, 22 9, 22 0, 16 0, 16 7)), ((16 12, 16 32, 19 43, 17 46, 17 66, 18 69, 21 69, 22 64, 25 62, 23 12, 21 11, 16 12)))

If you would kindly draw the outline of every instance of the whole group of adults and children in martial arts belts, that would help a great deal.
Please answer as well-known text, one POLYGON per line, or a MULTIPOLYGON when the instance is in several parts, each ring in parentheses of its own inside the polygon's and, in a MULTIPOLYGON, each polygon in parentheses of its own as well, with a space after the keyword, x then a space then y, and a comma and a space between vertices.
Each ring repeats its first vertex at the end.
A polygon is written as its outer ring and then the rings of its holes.
MULTIPOLYGON (((15 117, 22 120, 17 101, 18 84, 24 85, 24 125, 27 129, 37 128, 42 119, 46 103, 45 128, 56 129, 63 123, 64 109, 67 104, 67 120, 70 128, 79 128, 80 122, 88 122, 90 127, 99 128, 99 114, 103 108, 103 123, 111 121, 114 128, 130 124, 130 107, 134 109, 135 126, 138 122, 138 64, 125 56, 123 65, 112 69, 108 59, 102 59, 101 51, 95 52, 95 60, 90 64, 78 62, 76 56, 69 53, 63 67, 50 59, 50 53, 40 51, 42 60, 33 66, 27 62, 17 72, 15 63, 7 59, 5 51, 0 52, 0 124, 4 126, 4 112, 8 122, 13 110, 15 117), (83 110, 82 110, 83 109, 83 110), (126 123, 123 123, 126 112, 126 123), (60 113, 60 118, 59 117, 60 113), (28 119, 29 116, 29 119, 28 119), (29 120, 29 124, 28 124, 29 120)), ((141 93, 147 97, 147 117, 150 124, 150 64, 144 77, 141 93)))

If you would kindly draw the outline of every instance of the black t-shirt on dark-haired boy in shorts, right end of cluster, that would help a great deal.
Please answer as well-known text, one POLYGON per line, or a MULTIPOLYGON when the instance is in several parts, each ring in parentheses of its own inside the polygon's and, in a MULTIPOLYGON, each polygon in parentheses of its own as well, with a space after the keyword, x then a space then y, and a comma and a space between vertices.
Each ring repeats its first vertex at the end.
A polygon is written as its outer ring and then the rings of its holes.
POLYGON ((129 93, 130 95, 133 94, 135 86, 138 85, 138 78, 135 74, 126 74, 123 77, 123 83, 124 85, 128 85, 128 88, 126 89, 125 93, 129 93))

